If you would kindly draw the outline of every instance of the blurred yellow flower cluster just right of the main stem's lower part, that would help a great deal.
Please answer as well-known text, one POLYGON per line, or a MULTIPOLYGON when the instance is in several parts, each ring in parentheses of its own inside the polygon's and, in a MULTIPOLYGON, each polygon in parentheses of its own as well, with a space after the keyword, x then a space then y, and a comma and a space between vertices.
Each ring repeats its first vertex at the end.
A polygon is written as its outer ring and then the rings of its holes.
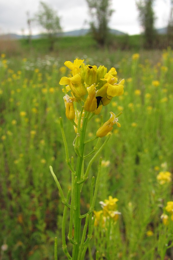
POLYGON ((94 211, 95 222, 94 225, 98 226, 101 223, 101 226, 105 225, 107 219, 112 219, 116 222, 121 214, 117 211, 117 198, 108 197, 108 200, 100 201, 101 207, 103 208, 100 211, 94 211))

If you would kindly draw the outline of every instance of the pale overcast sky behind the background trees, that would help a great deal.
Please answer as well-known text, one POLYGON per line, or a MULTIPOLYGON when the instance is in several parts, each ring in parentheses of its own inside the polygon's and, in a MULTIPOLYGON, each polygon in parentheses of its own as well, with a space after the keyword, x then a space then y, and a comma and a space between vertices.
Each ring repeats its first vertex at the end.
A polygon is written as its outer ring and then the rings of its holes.
MULTIPOLYGON (((63 31, 72 31, 89 27, 89 14, 86 0, 43 0, 57 11, 61 18, 63 31)), ((27 12, 30 18, 38 12, 40 0, 0 0, 0 34, 28 34, 27 12), (23 31, 22 31, 23 30, 23 31)), ((141 31, 138 21, 138 10, 135 0, 112 0, 109 27, 128 34, 138 34, 141 31)), ((168 24, 170 0, 155 0, 155 26, 165 27, 168 24)), ((32 24, 32 33, 37 34, 41 28, 32 24)))

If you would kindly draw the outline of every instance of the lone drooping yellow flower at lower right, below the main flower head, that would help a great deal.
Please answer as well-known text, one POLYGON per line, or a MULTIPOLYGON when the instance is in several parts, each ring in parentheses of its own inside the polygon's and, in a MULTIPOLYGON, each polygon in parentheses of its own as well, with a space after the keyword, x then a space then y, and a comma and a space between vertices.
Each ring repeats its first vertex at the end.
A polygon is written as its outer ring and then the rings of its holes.
POLYGON ((113 112, 110 112, 111 116, 108 121, 104 123, 96 132, 96 135, 98 137, 103 137, 107 135, 112 129, 113 125, 116 124, 118 127, 121 127, 121 125, 118 123, 118 118, 116 118, 115 114, 113 112))

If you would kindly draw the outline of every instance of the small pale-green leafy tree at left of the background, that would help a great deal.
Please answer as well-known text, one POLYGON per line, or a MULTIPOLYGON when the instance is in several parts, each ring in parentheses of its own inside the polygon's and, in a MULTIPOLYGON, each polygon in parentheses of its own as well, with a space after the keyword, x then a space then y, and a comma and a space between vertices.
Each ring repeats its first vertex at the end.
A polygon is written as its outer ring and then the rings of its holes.
POLYGON ((50 39, 50 51, 53 50, 55 35, 61 31, 60 18, 57 12, 51 9, 46 3, 40 1, 39 12, 35 14, 35 21, 41 25, 50 39))

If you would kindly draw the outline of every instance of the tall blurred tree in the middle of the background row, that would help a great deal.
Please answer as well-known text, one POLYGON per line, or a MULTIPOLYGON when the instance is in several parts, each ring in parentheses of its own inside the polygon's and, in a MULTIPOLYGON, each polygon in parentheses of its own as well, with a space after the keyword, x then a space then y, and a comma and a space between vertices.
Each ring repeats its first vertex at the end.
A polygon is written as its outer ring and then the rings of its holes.
POLYGON ((110 9, 111 0, 86 0, 91 16, 91 32, 93 38, 104 46, 108 43, 108 23, 114 10, 110 9))

